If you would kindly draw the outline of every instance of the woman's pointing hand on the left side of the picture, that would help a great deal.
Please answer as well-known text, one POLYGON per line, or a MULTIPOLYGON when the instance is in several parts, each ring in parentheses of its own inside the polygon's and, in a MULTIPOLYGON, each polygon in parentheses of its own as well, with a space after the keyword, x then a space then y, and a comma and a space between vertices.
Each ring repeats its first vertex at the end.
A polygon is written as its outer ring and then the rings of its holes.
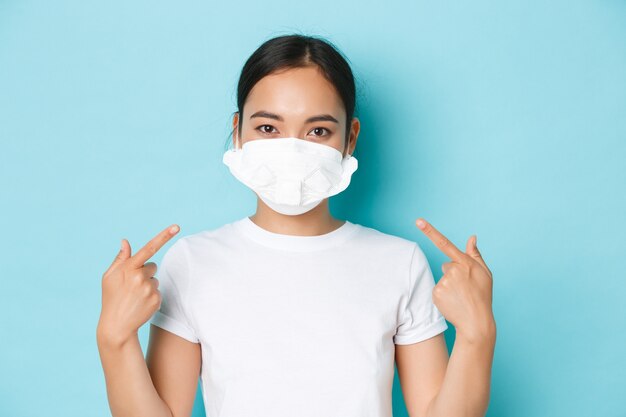
POLYGON ((123 345, 160 308, 159 281, 154 278, 157 266, 146 261, 179 230, 178 225, 168 226, 133 256, 130 243, 122 239, 117 257, 102 275, 98 343, 123 345))

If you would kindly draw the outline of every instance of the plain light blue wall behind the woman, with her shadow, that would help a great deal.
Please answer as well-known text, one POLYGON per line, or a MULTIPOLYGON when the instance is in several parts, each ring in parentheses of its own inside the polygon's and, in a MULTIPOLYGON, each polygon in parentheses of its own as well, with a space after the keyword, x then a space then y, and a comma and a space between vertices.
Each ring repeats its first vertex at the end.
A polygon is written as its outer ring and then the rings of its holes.
POLYGON ((123 237, 254 212, 221 163, 236 82, 294 31, 357 77, 360 166, 333 214, 417 241, 436 280, 448 259, 415 219, 463 250, 477 234, 498 325, 488 416, 626 416, 618 0, 0 0, 0 415, 110 415, 101 275, 123 237))

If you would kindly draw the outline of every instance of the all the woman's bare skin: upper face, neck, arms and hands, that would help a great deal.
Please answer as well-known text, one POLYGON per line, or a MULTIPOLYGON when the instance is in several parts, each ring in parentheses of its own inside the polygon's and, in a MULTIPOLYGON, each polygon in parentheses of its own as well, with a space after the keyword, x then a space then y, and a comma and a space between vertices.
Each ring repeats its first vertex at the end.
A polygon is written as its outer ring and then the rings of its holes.
MULTIPOLYGON (((344 146, 343 103, 317 67, 289 69, 264 77, 250 91, 243 114, 241 131, 240 115, 233 117, 236 147, 261 138, 298 137, 346 155, 354 152, 360 129, 359 120, 352 118, 344 146), (251 118, 259 111, 279 115, 283 120, 267 115, 251 118), (337 123, 306 122, 320 114, 330 114, 337 123)), ((328 199, 307 213, 288 216, 257 198, 256 213, 250 219, 266 230, 299 236, 329 233, 345 223, 330 214, 328 199)), ((160 307, 158 280, 151 278, 156 264, 147 261, 178 232, 170 233, 168 229, 135 255, 124 239, 120 252, 103 274, 97 343, 114 417, 191 415, 201 367, 200 344, 150 325, 144 360, 137 336, 138 329, 160 307)), ((433 290, 433 301, 457 328, 457 340, 451 358, 443 334, 396 346, 405 403, 410 417, 482 416, 488 402, 495 343, 491 273, 485 272, 488 268, 477 249, 468 246, 467 254, 463 254, 434 227, 427 225, 424 232, 444 253, 454 256, 453 262, 444 264, 446 274, 433 290)))

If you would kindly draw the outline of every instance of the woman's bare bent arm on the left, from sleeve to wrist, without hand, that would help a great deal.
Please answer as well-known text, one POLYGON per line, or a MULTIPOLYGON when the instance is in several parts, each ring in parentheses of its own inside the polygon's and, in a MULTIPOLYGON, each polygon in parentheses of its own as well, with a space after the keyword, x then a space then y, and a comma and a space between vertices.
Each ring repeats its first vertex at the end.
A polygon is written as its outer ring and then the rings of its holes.
POLYGON ((150 326, 144 360, 137 335, 117 343, 98 330, 109 406, 114 417, 191 415, 200 372, 200 344, 150 326))

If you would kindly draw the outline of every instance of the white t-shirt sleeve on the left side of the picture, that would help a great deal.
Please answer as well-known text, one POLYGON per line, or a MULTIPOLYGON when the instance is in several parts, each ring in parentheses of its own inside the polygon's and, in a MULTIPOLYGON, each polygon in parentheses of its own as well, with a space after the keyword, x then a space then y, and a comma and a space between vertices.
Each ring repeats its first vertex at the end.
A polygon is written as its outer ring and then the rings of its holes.
POLYGON ((155 277, 159 280, 161 306, 152 315, 150 323, 198 343, 186 304, 190 276, 184 245, 184 241, 177 240, 163 255, 161 264, 157 265, 155 277))

